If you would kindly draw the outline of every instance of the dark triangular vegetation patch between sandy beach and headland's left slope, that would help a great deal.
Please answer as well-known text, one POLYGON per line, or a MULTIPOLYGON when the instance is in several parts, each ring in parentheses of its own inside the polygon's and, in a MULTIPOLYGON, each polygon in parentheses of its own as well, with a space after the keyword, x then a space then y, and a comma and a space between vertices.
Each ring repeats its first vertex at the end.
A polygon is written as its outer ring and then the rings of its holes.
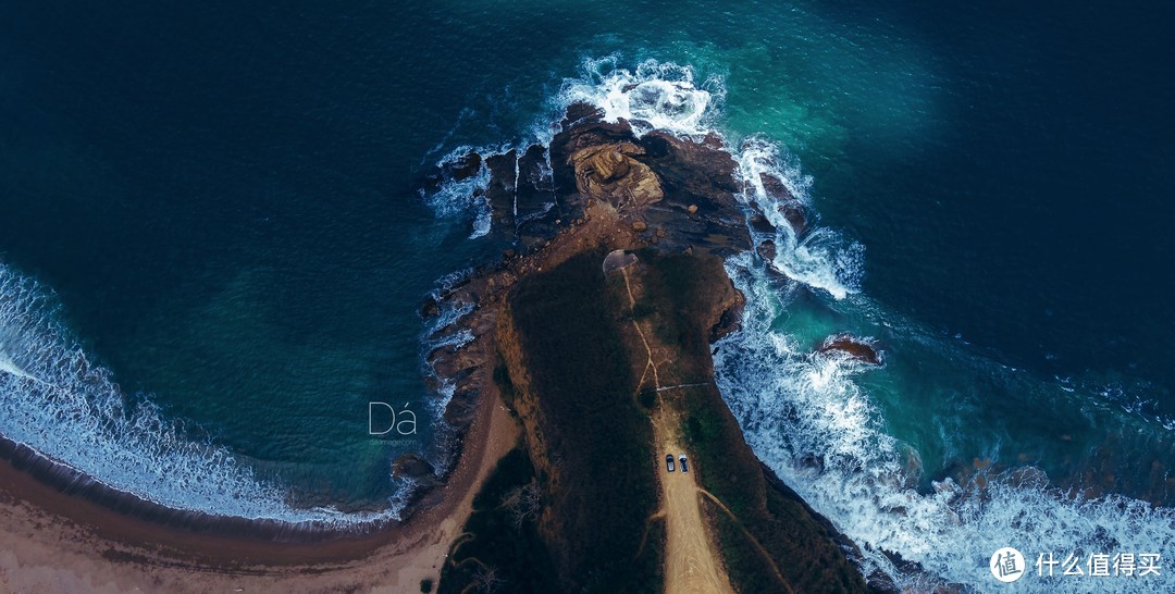
MULTIPOLYGON (((525 450, 502 458, 474 498, 474 513, 441 572, 439 594, 558 590, 551 556, 538 535, 540 504, 526 498, 535 481, 525 450)), ((431 580, 421 582, 421 592, 431 589, 431 580)))

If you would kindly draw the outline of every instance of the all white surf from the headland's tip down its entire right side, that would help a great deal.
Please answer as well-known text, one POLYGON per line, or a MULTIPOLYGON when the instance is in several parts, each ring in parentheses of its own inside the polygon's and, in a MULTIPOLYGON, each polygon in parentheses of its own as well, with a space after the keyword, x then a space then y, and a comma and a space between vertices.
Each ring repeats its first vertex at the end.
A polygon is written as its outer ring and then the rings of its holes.
MULTIPOLYGON (((880 572, 907 592, 931 592, 942 582, 987 590, 996 583, 988 569, 992 553, 1014 546, 1029 562, 1029 575, 1008 586, 1016 592, 1171 590, 1166 571, 1150 581, 1096 583, 1089 581, 1096 578, 1032 575, 1038 553, 1168 552, 1175 545, 1169 508, 1114 494, 1083 499, 1027 467, 980 471, 974 485, 947 478, 933 482, 931 492, 919 491, 919 453, 887 433, 884 414, 855 380, 861 364, 815 355, 811 344, 773 325, 798 286, 837 301, 860 293, 864 247, 815 224, 812 180, 778 143, 751 136, 731 147, 720 127, 721 79, 698 82, 691 67, 656 60, 633 69, 619 65, 618 55, 586 60, 582 76, 563 82, 551 116, 533 127, 528 142, 546 146, 576 102, 599 108, 606 121, 627 121, 637 135, 665 130, 721 139, 738 164, 737 197, 748 214, 771 223, 770 229, 752 225, 752 237, 757 245, 772 242, 774 254, 770 262, 757 254, 727 262, 747 298, 746 319, 743 331, 718 345, 716 377, 757 455, 862 548, 866 575, 880 572), (785 191, 768 188, 766 178, 785 191), (788 221, 788 205, 805 210, 806 224, 788 221), (780 282, 772 268, 788 281, 780 282), (911 563, 921 571, 909 571, 911 563)), ((469 204, 468 195, 445 200, 469 204)), ((865 296, 850 301, 871 308, 865 296)))

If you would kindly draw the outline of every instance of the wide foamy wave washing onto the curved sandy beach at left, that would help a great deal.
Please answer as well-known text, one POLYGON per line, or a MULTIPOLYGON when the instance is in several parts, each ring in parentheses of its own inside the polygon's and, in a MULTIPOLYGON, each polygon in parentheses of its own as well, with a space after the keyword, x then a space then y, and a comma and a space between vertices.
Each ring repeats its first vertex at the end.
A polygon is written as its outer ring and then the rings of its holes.
POLYGON ((148 398, 134 401, 60 322, 39 283, 0 264, 0 436, 42 463, 115 492, 209 517, 352 531, 398 520, 384 512, 297 508, 223 446, 194 440, 148 398))

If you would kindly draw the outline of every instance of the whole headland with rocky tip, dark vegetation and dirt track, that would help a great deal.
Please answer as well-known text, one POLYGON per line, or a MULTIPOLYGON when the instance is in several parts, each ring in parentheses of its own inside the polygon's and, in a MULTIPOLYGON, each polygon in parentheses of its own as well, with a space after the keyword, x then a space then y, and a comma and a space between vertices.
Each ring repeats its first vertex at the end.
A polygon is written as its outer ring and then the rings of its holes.
MULTIPOLYGON (((439 331, 470 339, 430 356, 452 386, 446 418, 499 397, 523 427, 441 592, 871 588, 855 546, 759 463, 714 385, 711 345, 743 304, 724 258, 753 248, 721 147, 638 137, 573 104, 548 147, 436 174, 488 173, 491 234, 515 245, 425 306, 470 310, 439 331)), ((870 358, 847 337, 825 349, 870 358)))

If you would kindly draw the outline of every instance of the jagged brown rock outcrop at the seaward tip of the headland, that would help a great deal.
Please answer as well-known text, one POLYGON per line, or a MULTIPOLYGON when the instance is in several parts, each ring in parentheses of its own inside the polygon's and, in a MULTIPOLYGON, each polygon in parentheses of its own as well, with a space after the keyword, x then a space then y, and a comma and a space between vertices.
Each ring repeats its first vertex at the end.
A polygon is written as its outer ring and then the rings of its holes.
POLYGON ((576 103, 548 147, 450 160, 427 177, 425 190, 488 171, 492 232, 519 254, 543 248, 582 223, 591 202, 603 202, 644 225, 640 231, 662 230, 644 243, 730 256, 751 249, 751 237, 734 197, 737 166, 721 148, 716 136, 692 142, 652 131, 638 139, 627 123, 605 122, 598 109, 576 103))

